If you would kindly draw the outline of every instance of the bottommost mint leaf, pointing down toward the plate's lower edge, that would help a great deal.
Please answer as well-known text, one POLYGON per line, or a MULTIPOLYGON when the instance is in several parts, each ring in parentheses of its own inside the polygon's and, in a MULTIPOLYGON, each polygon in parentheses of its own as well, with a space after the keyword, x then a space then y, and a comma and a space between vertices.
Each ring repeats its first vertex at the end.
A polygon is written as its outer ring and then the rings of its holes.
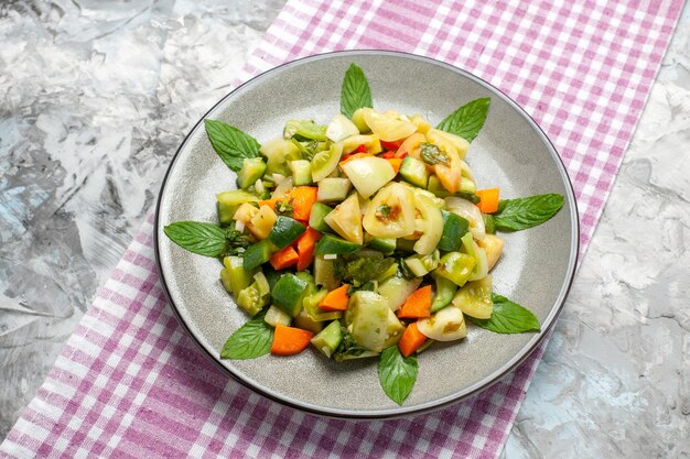
POLYGON ((398 405, 408 397, 417 381, 417 357, 402 357, 397 346, 384 349, 378 361, 378 380, 386 395, 398 405))

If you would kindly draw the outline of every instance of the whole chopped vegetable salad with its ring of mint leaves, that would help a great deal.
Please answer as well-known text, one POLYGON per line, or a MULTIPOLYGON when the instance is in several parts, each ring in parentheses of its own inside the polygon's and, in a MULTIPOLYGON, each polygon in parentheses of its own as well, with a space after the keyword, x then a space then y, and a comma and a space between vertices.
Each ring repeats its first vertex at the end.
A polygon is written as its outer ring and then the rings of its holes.
POLYGON ((376 110, 352 65, 341 113, 325 124, 288 120, 259 144, 217 120, 206 131, 237 172, 217 195, 218 223, 165 227, 179 245, 223 262, 220 281, 250 320, 222 358, 379 357, 379 379, 401 404, 417 356, 462 340, 467 323, 495 332, 538 331, 528 309, 497 295, 492 270, 505 240, 550 219, 560 195, 500 199, 477 187, 465 159, 489 99, 433 127, 420 114, 376 110))

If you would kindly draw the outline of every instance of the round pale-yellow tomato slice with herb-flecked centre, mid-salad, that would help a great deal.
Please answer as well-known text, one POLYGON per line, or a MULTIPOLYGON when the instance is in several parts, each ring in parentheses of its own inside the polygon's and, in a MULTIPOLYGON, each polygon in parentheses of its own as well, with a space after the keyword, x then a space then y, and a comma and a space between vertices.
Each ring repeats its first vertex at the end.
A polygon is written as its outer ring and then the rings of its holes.
POLYGON ((377 238, 403 238, 414 232, 414 194, 399 183, 381 188, 369 205, 364 229, 377 238))

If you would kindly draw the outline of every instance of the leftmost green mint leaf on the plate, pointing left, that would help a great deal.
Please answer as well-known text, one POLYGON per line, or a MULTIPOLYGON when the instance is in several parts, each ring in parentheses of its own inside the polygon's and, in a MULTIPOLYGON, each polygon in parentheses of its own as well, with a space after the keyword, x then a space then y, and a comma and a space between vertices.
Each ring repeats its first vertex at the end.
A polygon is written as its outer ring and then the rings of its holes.
POLYGON ((200 255, 218 256, 225 252, 226 230, 214 223, 175 221, 163 232, 181 248, 200 255))

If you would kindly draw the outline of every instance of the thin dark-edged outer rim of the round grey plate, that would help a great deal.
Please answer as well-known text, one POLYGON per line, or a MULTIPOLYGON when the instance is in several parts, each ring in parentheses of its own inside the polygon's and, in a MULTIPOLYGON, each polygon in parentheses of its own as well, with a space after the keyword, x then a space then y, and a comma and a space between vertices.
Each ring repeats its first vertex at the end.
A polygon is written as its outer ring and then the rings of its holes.
POLYGON ((388 51, 388 50, 347 50, 347 51, 332 51, 332 52, 326 52, 326 53, 320 53, 320 54, 313 54, 313 55, 309 55, 309 56, 304 56, 304 57, 300 57, 297 59, 292 59, 289 62, 285 62, 283 64, 280 64, 276 67, 270 68, 269 70, 262 72, 254 77, 251 77, 250 79, 248 79, 247 81, 242 83, 241 85, 237 86, 236 88, 234 88, 231 91, 229 91, 227 95, 225 95, 223 98, 220 98, 216 103, 214 103, 200 119, 190 129, 190 131, 187 132, 187 134, 184 136, 184 139, 182 140, 182 142, 180 143, 180 146, 177 147, 177 150, 175 151, 175 153, 173 154, 173 156, 170 160, 170 164, 165 171, 165 174, 163 176, 162 183, 161 183, 161 187, 159 189, 159 194, 158 194, 158 198, 157 198, 157 205, 155 205, 155 215, 154 215, 154 221, 153 221, 153 249, 154 249, 154 255, 155 255, 155 266, 158 269, 158 273, 159 273, 159 278, 161 282, 161 286, 163 287, 163 292, 165 294, 165 297, 168 299, 168 304, 170 305, 171 309, 173 310, 174 316, 177 319, 177 323, 182 326, 182 328, 184 328, 186 335, 192 339, 192 341, 195 343, 195 346, 202 351, 203 354, 205 354, 208 359, 211 359, 211 361, 218 367, 225 374, 229 375, 233 380, 235 380, 236 382, 240 383, 242 386, 249 389, 250 391, 258 393, 273 402, 279 403, 282 406, 288 406, 301 412, 306 412, 306 413, 311 413, 311 414, 315 414, 315 415, 320 415, 320 416, 325 416, 325 417, 332 417, 332 418, 339 418, 339 419, 362 419, 362 420, 366 420, 366 419, 390 419, 390 418, 401 418, 401 417, 408 417, 408 416, 412 416, 412 415, 420 415, 420 414, 424 414, 424 413, 431 413, 431 412, 435 412, 435 411, 440 411, 442 408, 445 408, 450 405, 456 404, 459 402, 462 402, 464 400, 467 400, 474 395, 477 395, 486 390, 488 390, 489 387, 492 387, 493 385, 495 385, 496 383, 498 383, 499 381, 502 381, 504 378, 506 378, 507 375, 509 375, 514 370, 517 369, 517 367, 519 367, 525 360, 527 360, 533 352, 535 350, 539 347, 539 345, 545 340, 545 338, 547 336, 551 335, 551 331, 553 329, 553 326, 558 319, 558 317, 560 316, 563 306, 565 304, 565 299, 568 298, 568 295, 570 294, 573 281, 574 281, 574 276, 575 276, 575 272, 576 272, 576 267, 578 267, 578 260, 579 260, 579 254, 580 254, 580 212, 578 209, 578 201, 575 199, 575 194, 574 194, 574 188, 572 185, 572 181, 570 179, 570 176, 568 175, 568 171, 565 170, 565 165, 563 164, 563 160, 561 159, 561 156, 558 154, 558 151, 556 150, 556 146, 553 146, 553 143, 551 142, 551 140, 549 139, 549 136, 546 134, 546 132, 541 129, 541 127, 533 120, 533 118, 519 105, 517 103, 515 100, 513 100, 513 98, 510 98, 508 95, 506 95, 504 91, 502 91, 500 89, 498 89, 497 87, 495 87, 494 85, 492 85, 490 83, 482 79, 481 77, 465 70, 462 69, 460 67, 456 67, 452 64, 448 64, 445 62, 435 59, 433 57, 428 57, 428 56, 422 56, 422 55, 418 55, 418 54, 413 54, 413 53, 407 53, 407 52, 401 52, 401 51, 388 51), (539 331, 538 334, 535 335, 535 337, 528 341, 525 347, 520 350, 520 352, 518 352, 516 356, 514 356, 511 359, 509 359, 507 362, 505 362, 498 370, 496 370, 494 373, 489 374, 488 376, 484 378, 483 380, 476 382, 475 384, 472 384, 471 386, 465 387, 462 391, 457 391, 453 394, 446 395, 444 397, 438 398, 435 401, 432 402, 427 402, 417 406, 412 406, 412 407, 406 407, 405 405, 400 405, 400 406, 396 406, 393 408, 385 408, 385 409, 370 409, 370 411, 352 411, 352 409, 346 409, 346 408, 325 408, 319 405, 314 405, 312 403, 306 403, 306 402, 302 402, 299 400, 293 400, 292 397, 284 397, 284 396, 280 396, 276 393, 273 393, 270 390, 267 390, 266 387, 262 387, 261 385, 258 384, 252 384, 249 381, 246 381, 245 379, 240 378, 239 375, 235 374, 235 372, 233 372, 233 370, 230 370, 229 368, 225 367, 219 359, 216 358, 216 356, 214 356, 208 349, 206 349, 206 347, 204 347, 204 345, 201 342, 201 340, 196 337, 196 335, 192 331, 191 327, 186 324, 186 321, 182 318, 182 315, 177 308, 177 305, 175 305, 175 303, 172 300, 172 296, 171 293, 169 291, 168 287, 168 282, 165 280, 165 275, 164 275, 164 271, 163 271, 163 266, 161 263, 161 256, 160 256, 160 242, 161 242, 161 238, 160 238, 160 216, 161 216, 161 204, 162 204, 162 197, 163 194, 165 192, 165 187, 169 184, 169 178, 170 175, 172 173, 172 170, 177 161, 177 159, 180 157, 180 154, 182 153, 182 151, 185 149, 185 146, 187 145, 187 143, 190 143, 191 138, 193 136, 193 134, 196 132, 196 130, 198 129, 198 127, 204 122, 204 120, 207 119, 207 117, 219 106, 222 106, 224 102, 226 102, 226 100, 228 100, 229 98, 231 98, 235 92, 237 92, 238 90, 240 90, 241 88, 244 88, 245 86, 248 86, 250 84, 256 83, 257 79, 260 78, 266 78, 267 76, 272 75, 273 73, 279 73, 282 72, 287 68, 290 68, 292 66, 297 66, 297 65, 304 65, 304 64, 309 64, 310 62, 315 62, 315 61, 321 61, 321 59, 327 59, 327 58, 332 58, 332 57, 338 57, 338 56, 346 56, 346 55, 352 55, 352 56, 356 56, 356 55, 384 55, 384 56, 396 56, 396 57, 403 57, 403 58, 410 58, 410 59, 414 59, 414 61, 421 61, 424 62, 427 64, 431 64, 431 65, 436 65, 436 66, 441 66, 448 70, 454 72, 456 74, 460 74, 462 76, 464 76, 465 78, 468 78, 471 80, 473 80, 474 83, 485 87, 486 89, 488 89, 489 91, 494 92, 496 96, 500 97, 506 103, 508 103, 510 107, 513 107, 519 114, 522 116, 522 118, 528 122, 528 124, 535 130, 535 132, 539 135, 539 138, 541 139, 541 141, 545 143, 545 145, 547 146, 547 150, 549 151, 549 153, 551 154, 551 156, 556 160, 556 165, 557 168, 561 175, 561 179, 563 181, 564 187, 565 187, 565 199, 569 203, 571 212, 570 212, 570 223, 571 223, 571 228, 573 230, 572 232, 572 238, 570 241, 570 256, 568 260, 568 270, 567 270, 567 280, 563 283, 563 285, 561 286, 561 292, 558 296, 558 298, 554 300, 554 306, 553 308, 551 308, 549 315, 545 318, 542 327, 541 327, 541 331, 539 331))

